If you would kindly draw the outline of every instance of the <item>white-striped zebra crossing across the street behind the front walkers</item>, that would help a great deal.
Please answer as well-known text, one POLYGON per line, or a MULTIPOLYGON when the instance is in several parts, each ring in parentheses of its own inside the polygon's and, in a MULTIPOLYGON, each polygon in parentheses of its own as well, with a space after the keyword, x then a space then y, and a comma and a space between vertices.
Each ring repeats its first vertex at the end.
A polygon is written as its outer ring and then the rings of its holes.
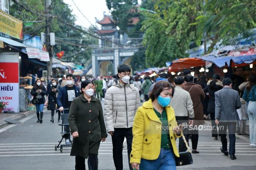
MULTIPOLYGON (((64 147, 63 152, 60 149, 55 151, 56 143, 0 143, 0 157, 22 157, 22 156, 59 156, 69 155, 71 147, 64 147)), ((178 145, 178 144, 177 144, 178 145)), ((220 151, 221 143, 217 142, 199 142, 197 150, 200 155, 222 155, 220 151)), ((190 145, 190 149, 191 145, 190 145)), ((127 155, 126 146, 123 148, 123 154, 127 155)), ((112 142, 102 142, 99 147, 100 155, 112 155, 112 142)), ((236 155, 256 155, 256 147, 249 146, 248 143, 236 143, 236 155)))

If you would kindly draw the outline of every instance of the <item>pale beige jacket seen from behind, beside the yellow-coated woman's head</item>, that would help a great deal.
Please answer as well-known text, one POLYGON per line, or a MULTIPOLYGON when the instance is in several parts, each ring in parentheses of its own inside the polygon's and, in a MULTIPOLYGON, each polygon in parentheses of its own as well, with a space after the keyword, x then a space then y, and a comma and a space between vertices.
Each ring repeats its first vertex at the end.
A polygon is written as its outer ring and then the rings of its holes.
POLYGON ((190 119, 195 116, 190 94, 180 86, 175 87, 170 106, 173 107, 175 116, 189 116, 190 119))

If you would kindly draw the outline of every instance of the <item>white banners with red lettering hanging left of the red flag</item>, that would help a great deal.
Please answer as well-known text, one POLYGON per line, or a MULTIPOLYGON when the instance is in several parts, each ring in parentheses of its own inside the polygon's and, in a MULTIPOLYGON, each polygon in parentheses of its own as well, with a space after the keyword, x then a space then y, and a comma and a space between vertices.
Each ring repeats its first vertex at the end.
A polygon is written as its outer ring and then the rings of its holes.
POLYGON ((38 48, 26 48, 29 59, 39 59, 40 61, 49 62, 49 53, 41 51, 38 48))

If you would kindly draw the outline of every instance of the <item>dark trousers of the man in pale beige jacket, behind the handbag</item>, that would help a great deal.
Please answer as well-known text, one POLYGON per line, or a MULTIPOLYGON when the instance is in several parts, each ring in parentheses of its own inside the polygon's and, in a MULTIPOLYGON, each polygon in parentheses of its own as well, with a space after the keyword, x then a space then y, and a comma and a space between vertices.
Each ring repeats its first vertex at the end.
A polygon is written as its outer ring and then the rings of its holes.
MULTIPOLYGON (((175 116, 176 117, 176 121, 179 124, 181 123, 184 123, 184 122, 187 122, 188 123, 188 116, 175 116)), ((189 134, 188 134, 188 128, 183 128, 182 130, 182 133, 188 143, 188 137, 189 137, 189 134)), ((179 152, 185 152, 187 150, 187 146, 183 140, 182 137, 179 138, 179 152)))

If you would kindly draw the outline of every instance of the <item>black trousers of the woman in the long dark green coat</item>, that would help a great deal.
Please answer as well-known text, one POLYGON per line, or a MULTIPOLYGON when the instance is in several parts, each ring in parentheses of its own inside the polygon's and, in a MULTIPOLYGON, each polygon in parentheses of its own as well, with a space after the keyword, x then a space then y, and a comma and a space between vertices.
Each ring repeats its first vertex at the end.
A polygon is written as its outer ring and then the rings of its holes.
MULTIPOLYGON (((75 160, 75 170, 85 170, 85 158, 76 156, 75 160)), ((98 155, 89 154, 87 162, 89 170, 98 170, 98 155)))

